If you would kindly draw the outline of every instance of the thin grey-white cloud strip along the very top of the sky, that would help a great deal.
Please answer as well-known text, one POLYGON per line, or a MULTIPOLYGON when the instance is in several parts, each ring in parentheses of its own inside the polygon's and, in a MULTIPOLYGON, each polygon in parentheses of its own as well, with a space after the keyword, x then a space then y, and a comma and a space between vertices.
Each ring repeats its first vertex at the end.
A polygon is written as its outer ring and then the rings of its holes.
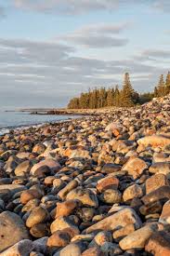
POLYGON ((84 14, 91 11, 114 11, 119 7, 145 6, 170 11, 169 0, 13 0, 15 7, 44 13, 66 15, 84 14))

